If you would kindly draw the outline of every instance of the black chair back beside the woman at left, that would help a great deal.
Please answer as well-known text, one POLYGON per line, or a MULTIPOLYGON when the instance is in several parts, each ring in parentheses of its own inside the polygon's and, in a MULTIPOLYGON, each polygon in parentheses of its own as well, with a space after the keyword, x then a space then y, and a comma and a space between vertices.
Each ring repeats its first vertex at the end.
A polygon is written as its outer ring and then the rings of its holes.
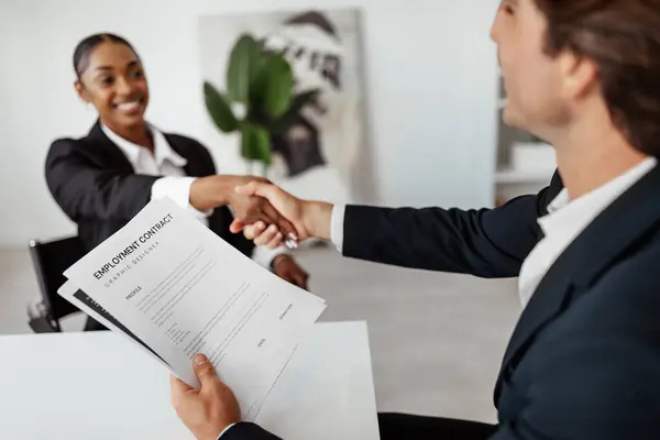
POLYGON ((63 272, 85 256, 82 242, 78 237, 51 242, 33 240, 30 242, 30 256, 42 297, 42 319, 32 319, 31 327, 36 332, 62 331, 59 320, 79 309, 61 297, 57 289, 66 282, 63 272), (52 329, 45 328, 48 324, 52 329))

